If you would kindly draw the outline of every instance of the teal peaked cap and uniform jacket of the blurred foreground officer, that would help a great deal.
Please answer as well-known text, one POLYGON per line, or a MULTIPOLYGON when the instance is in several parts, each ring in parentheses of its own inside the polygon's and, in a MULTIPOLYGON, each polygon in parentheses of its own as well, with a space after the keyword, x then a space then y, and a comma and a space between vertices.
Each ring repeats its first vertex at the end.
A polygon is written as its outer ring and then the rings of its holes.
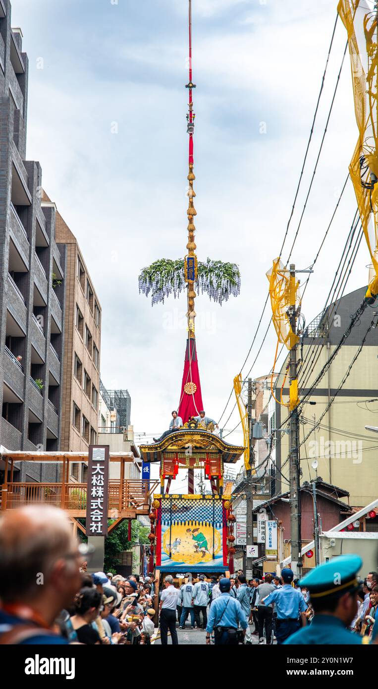
MULTIPOLYGON (((327 598, 334 599, 338 593, 355 593, 359 586, 357 572, 361 566, 362 560, 358 555, 340 555, 311 570, 301 579, 299 586, 306 586, 310 592, 310 600, 322 602, 326 612, 327 598)), ((341 619, 323 613, 315 613, 310 626, 302 628, 284 641, 285 645, 360 646, 362 643, 362 637, 346 629, 341 619)))

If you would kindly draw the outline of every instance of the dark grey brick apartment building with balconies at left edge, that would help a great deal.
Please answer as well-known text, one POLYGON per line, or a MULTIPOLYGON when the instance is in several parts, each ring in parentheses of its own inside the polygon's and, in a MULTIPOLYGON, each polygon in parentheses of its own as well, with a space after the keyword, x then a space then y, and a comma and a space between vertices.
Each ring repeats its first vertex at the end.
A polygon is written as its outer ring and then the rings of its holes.
MULTIPOLYGON (((28 56, 10 14, 0 0, 0 443, 52 451, 61 431, 65 246, 56 244, 54 207, 40 203, 41 166, 25 161, 28 56)), ((23 464, 14 478, 55 480, 56 471, 23 464)))

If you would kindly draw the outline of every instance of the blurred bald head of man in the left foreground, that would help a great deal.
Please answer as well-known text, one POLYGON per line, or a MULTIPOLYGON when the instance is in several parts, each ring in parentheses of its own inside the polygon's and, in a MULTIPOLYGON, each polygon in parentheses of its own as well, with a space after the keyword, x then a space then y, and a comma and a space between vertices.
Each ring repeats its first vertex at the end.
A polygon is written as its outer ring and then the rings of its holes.
POLYGON ((0 599, 11 603, 52 591, 59 604, 70 599, 80 588, 77 555, 62 510, 30 505, 6 512, 0 520, 0 599))

